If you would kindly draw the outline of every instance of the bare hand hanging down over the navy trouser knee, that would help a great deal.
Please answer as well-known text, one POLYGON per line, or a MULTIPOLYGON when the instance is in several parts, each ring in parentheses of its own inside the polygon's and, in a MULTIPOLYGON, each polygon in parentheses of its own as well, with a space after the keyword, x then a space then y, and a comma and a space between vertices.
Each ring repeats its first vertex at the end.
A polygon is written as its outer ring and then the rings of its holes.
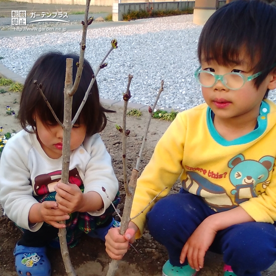
POLYGON ((180 263, 184 263, 187 257, 190 266, 199 271, 203 267, 205 253, 214 241, 216 233, 212 224, 204 220, 185 243, 180 254, 180 263))

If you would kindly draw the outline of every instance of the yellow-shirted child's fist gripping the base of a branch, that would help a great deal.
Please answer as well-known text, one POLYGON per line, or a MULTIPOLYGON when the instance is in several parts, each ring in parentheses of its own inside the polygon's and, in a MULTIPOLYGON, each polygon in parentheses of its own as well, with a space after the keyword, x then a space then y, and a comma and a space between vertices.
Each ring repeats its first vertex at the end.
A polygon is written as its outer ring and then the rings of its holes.
POLYGON ((124 235, 120 235, 119 230, 120 227, 111 228, 105 236, 105 251, 110 258, 115 260, 120 260, 127 252, 130 247, 129 243, 135 240, 134 236, 138 227, 130 221, 124 235))

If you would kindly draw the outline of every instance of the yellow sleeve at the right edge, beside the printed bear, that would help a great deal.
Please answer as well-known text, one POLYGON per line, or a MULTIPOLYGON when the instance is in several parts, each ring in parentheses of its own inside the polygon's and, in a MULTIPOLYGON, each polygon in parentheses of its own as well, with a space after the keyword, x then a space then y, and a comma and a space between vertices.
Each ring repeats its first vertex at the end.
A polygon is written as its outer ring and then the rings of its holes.
POLYGON ((276 221, 276 161, 271 180, 265 191, 257 197, 240 204, 240 206, 257 222, 274 223, 276 221))

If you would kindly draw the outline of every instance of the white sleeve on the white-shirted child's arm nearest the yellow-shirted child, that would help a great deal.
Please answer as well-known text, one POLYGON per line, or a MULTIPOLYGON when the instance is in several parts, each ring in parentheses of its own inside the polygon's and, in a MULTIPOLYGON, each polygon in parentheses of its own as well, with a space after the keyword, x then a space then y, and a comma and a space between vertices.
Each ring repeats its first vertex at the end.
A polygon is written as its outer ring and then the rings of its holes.
POLYGON ((85 141, 84 148, 90 152, 91 157, 84 175, 84 193, 94 191, 102 197, 103 208, 89 212, 92 216, 100 216, 114 200, 118 192, 118 181, 111 165, 111 157, 98 133, 85 141), (109 198, 103 192, 102 187, 109 198))

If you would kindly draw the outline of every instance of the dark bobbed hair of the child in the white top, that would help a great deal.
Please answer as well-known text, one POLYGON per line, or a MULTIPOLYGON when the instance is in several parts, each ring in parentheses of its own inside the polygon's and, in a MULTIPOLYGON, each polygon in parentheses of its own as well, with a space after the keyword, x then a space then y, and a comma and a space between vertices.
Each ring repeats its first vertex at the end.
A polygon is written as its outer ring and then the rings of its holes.
MULTIPOLYGON (((38 58, 28 74, 22 91, 18 114, 20 123, 26 131, 31 132, 27 128, 28 125, 31 125, 33 128, 35 127, 34 115, 37 115, 42 122, 57 123, 49 107, 42 98, 37 85, 34 84, 34 80, 37 80, 38 84, 42 84, 44 95, 50 102, 59 120, 63 121, 64 81, 67 58, 73 59, 74 81, 77 72, 76 64, 79 61, 79 56, 74 54, 63 55, 59 52, 44 54, 38 58)), ((72 119, 83 100, 84 94, 92 79, 92 75, 93 70, 90 64, 87 60, 84 60, 80 83, 73 96, 72 119)), ((98 86, 95 81, 77 122, 86 125, 87 135, 93 135, 103 130, 106 125, 106 116, 104 112, 114 111, 105 109, 100 104, 98 86)))

